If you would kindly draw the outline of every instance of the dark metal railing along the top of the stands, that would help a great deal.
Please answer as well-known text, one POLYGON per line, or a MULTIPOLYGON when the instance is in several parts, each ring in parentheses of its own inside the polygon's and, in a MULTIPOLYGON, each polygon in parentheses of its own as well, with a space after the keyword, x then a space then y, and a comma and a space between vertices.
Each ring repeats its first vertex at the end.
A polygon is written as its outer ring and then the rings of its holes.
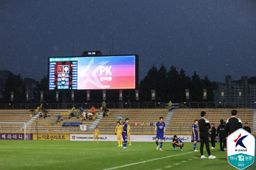
MULTIPOLYGON (((82 107, 84 109, 100 109, 102 103, 45 103, 45 109, 70 109, 72 105, 76 104, 76 108, 82 107)), ((36 109, 40 103, 22 103, 22 104, 0 104, 2 110, 30 110, 36 109)), ((168 103, 163 102, 130 102, 130 103, 106 103, 108 109, 167 109, 168 103)), ((256 109, 256 102, 182 102, 172 104, 172 109, 178 108, 254 108, 256 109)))

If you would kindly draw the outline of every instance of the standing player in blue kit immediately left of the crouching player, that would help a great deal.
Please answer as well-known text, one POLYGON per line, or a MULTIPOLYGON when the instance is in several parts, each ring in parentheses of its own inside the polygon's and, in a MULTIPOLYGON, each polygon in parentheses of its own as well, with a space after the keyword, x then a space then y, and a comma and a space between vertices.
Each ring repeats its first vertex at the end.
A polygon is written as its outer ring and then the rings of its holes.
POLYGON ((155 124, 155 143, 157 145, 156 149, 159 148, 158 139, 160 138, 160 151, 162 151, 163 139, 165 136, 165 123, 163 122, 163 117, 159 117, 159 122, 155 124))

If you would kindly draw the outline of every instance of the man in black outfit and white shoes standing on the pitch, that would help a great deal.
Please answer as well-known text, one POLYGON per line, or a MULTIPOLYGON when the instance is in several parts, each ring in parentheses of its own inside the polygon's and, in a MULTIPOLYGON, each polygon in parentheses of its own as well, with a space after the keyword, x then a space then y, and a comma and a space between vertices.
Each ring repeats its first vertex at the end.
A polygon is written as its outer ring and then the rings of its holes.
POLYGON ((198 121, 198 126, 199 126, 199 132, 200 132, 200 153, 201 153, 201 158, 207 158, 203 155, 203 145, 205 144, 207 153, 209 155, 209 159, 214 159, 216 158, 215 156, 212 156, 210 154, 210 147, 209 147, 209 128, 210 128, 210 123, 207 119, 205 119, 206 113, 205 111, 201 111, 201 119, 198 121))

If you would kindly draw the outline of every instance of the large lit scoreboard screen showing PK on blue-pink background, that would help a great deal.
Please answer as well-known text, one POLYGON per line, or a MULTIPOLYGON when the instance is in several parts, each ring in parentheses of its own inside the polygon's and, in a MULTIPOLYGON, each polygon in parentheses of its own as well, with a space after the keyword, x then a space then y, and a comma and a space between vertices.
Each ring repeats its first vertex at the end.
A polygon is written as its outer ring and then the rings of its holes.
POLYGON ((138 55, 48 57, 49 90, 137 89, 138 55))

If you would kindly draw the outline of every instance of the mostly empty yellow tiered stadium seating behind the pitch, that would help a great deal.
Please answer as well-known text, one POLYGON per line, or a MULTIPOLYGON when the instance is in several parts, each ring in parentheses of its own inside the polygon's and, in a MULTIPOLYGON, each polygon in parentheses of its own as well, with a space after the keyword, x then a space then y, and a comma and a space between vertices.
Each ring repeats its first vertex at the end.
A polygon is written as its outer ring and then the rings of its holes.
MULTIPOLYGON (((244 123, 247 122, 249 127, 253 130, 253 114, 252 108, 234 108, 238 112, 238 117, 244 123)), ((93 127, 99 127, 101 132, 114 132, 118 119, 122 117, 121 121, 125 118, 130 119, 131 132, 151 132, 154 133, 155 123, 159 121, 159 117, 168 120, 165 121, 167 125, 167 132, 186 132, 191 133, 191 126, 195 119, 200 119, 200 112, 206 111, 207 119, 210 123, 214 123, 217 127, 220 124, 220 119, 227 121, 231 117, 231 110, 233 109, 175 109, 168 112, 167 109, 113 109, 108 111, 108 117, 99 118, 99 121, 85 121, 72 117, 68 119, 68 110, 47 110, 48 117, 39 119, 38 115, 30 117, 29 110, 0 110, 0 122, 15 122, 27 123, 27 130, 30 131, 81 131, 80 127, 64 127, 63 123, 80 122, 89 128, 92 124, 93 127), (61 123, 56 123, 57 115, 61 114, 63 117, 61 123), (171 117, 168 118, 167 117, 171 117)), ((99 113, 97 110, 96 113, 99 113)), ((89 113, 90 110, 87 110, 89 113)), ((81 117, 81 116, 80 116, 81 117)), ((1 131, 20 131, 24 124, 9 124, 1 127, 1 131)))

